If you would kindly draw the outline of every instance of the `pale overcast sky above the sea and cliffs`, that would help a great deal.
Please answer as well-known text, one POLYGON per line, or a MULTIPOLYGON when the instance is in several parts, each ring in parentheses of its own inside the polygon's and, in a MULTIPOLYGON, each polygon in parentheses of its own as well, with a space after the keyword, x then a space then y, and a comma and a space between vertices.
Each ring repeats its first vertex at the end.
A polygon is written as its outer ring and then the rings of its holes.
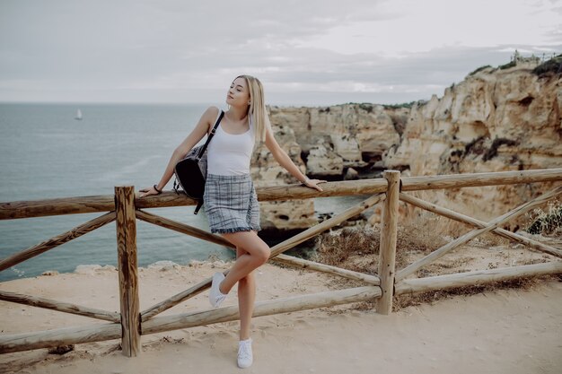
POLYGON ((0 101, 274 105, 443 95, 481 65, 562 52, 562 0, 0 0, 0 101))

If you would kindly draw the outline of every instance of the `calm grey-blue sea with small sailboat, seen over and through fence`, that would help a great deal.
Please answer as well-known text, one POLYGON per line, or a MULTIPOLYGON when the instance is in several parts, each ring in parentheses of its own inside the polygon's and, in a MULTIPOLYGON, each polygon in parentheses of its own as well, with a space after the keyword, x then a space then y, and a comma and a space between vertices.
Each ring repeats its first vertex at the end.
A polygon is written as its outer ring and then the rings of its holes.
MULTIPOLYGON (((115 186, 150 187, 207 104, 0 103, 0 202, 113 195, 115 186), (78 110, 82 119, 75 119, 78 110)), ((170 189, 172 181, 166 189, 170 189)), ((314 199, 316 214, 338 213, 363 196, 314 199)), ((208 230, 193 206, 148 209, 208 230)), ((0 258, 12 256, 103 213, 0 221, 0 258)), ((222 246, 136 221, 139 266, 233 259, 222 246)), ((269 243, 274 244, 274 243, 269 243)), ((117 265, 112 222, 0 272, 0 282, 78 266, 117 265)))

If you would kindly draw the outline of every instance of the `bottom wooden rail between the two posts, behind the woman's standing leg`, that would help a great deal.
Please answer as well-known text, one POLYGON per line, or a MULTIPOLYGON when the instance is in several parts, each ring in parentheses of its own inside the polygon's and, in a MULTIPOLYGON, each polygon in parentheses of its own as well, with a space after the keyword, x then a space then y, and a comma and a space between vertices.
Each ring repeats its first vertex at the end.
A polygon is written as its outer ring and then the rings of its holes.
MULTIPOLYGON (((329 307, 357 301, 368 301, 380 296, 381 289, 379 287, 365 286, 340 291, 315 293, 312 295, 294 296, 286 299, 258 301, 255 304, 253 317, 329 307)), ((237 306, 204 310, 175 316, 154 317, 146 322, 143 322, 143 335, 177 330, 179 328, 233 321, 238 318, 239 314, 237 306)))

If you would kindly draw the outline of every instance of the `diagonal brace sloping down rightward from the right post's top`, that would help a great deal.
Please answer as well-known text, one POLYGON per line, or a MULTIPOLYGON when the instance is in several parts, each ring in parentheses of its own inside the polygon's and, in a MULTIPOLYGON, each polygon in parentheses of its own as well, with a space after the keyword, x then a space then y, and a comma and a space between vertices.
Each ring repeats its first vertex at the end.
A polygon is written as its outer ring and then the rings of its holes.
MULTIPOLYGON (((468 215, 465 215, 465 214, 462 214, 462 213, 454 212, 450 209, 443 208, 443 206, 428 203, 428 202, 426 202, 424 200, 421 200, 421 199, 418 199, 417 197, 414 197, 414 196, 409 196, 409 195, 401 193, 400 194, 400 200, 402 200, 402 201, 404 201, 408 204, 415 205, 419 208, 425 209, 426 211, 433 212, 433 213, 436 213, 436 214, 439 214, 439 215, 443 215, 443 217, 450 218, 450 219, 455 220, 457 222, 462 222, 462 223, 466 223, 466 224, 471 225, 471 226, 478 227, 479 229, 487 226, 487 222, 477 220, 476 218, 472 218, 472 217, 470 217, 468 215)), ((550 247, 546 244, 540 243, 537 240, 525 238, 525 237, 523 237, 521 235, 518 235, 514 232, 504 230, 504 229, 501 229, 499 227, 497 229, 492 230, 492 232, 494 232, 495 234, 497 234, 497 235, 499 235, 499 236, 501 236, 505 239, 514 240, 518 243, 522 243, 522 244, 527 245, 527 246, 529 246, 533 249, 539 250, 540 252, 548 253, 549 255, 556 256, 556 257, 562 257, 562 250, 560 250, 558 248, 550 247)))

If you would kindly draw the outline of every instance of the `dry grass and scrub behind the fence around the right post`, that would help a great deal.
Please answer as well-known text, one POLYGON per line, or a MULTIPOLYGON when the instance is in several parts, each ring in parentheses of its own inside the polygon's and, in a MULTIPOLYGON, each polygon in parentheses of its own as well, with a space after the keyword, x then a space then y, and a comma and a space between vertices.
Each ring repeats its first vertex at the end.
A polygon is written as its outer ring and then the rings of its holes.
MULTIPOLYGON (((450 194, 444 196, 442 191, 417 191, 413 196, 426 201, 439 201, 445 207, 459 211, 454 207, 461 199, 460 196, 450 194), (443 203, 444 202, 444 203, 443 203), (451 205, 451 206, 448 206, 451 205)), ((466 196, 464 196, 466 198, 466 196)), ((462 206, 462 204, 461 204, 462 206)), ((479 217, 479 206, 464 206, 462 210, 473 217, 479 217)), ((408 204, 400 205, 401 221, 398 230, 396 253, 396 268, 404 268, 417 258, 424 257, 452 239, 474 230, 474 227, 456 222, 434 213, 414 208, 408 204)), ((542 234, 540 241, 550 240, 555 247, 562 243, 562 204, 559 200, 551 201, 540 209, 527 214, 526 220, 511 222, 505 230, 522 230, 531 227, 539 228, 542 234), (526 221, 526 222, 523 222, 526 221), (553 244, 558 243, 558 244, 553 244)), ((487 221, 486 217, 479 217, 487 221)), ((336 265, 364 274, 376 274, 378 270, 378 252, 381 232, 378 227, 369 230, 344 229, 334 233, 323 234, 317 239, 316 260, 321 263, 336 265)), ((424 266, 417 271, 417 277, 435 276, 441 274, 463 273, 474 270, 492 269, 511 265, 531 265, 556 260, 548 256, 537 257, 529 255, 528 249, 521 245, 514 245, 510 240, 488 232, 470 242, 469 246, 452 251, 452 256, 440 258, 431 265, 424 266), (455 253, 456 252, 456 253, 455 253), (489 263, 488 263, 489 261, 489 263)), ((487 283, 461 288, 427 291, 417 294, 404 294, 394 298, 393 309, 399 310, 409 306, 433 303, 437 300, 449 299, 459 295, 474 295, 501 289, 529 290, 545 281, 558 279, 562 275, 535 276, 520 278, 513 281, 487 283)), ((358 287, 363 283, 350 281, 345 278, 335 278, 331 287, 343 289, 358 287)), ((353 309, 373 309, 373 303, 356 303, 353 309)), ((335 310, 334 312, 338 312, 335 310)))

